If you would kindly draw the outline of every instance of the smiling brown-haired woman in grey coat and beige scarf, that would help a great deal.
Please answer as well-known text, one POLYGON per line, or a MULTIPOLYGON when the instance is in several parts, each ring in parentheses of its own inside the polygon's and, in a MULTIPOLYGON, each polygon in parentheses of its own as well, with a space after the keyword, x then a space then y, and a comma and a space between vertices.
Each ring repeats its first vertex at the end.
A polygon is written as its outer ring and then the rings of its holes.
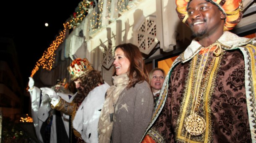
POLYGON ((154 109, 148 74, 136 45, 118 45, 114 58, 114 85, 99 118, 99 143, 139 143, 154 109))

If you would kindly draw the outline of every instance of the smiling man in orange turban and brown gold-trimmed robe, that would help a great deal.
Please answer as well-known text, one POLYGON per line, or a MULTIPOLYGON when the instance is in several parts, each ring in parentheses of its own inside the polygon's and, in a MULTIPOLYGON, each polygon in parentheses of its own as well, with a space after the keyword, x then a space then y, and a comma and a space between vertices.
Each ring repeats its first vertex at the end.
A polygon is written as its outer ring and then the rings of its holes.
POLYGON ((172 64, 143 143, 256 143, 256 41, 241 0, 176 0, 196 37, 172 64))

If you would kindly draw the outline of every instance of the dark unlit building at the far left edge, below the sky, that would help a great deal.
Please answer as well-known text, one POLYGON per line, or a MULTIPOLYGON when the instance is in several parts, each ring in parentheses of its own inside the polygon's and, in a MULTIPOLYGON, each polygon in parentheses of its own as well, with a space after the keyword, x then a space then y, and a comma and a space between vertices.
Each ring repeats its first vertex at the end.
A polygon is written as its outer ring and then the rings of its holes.
POLYGON ((0 37, 0 45, 0 112, 5 118, 18 119, 24 95, 16 49, 10 38, 0 37))

